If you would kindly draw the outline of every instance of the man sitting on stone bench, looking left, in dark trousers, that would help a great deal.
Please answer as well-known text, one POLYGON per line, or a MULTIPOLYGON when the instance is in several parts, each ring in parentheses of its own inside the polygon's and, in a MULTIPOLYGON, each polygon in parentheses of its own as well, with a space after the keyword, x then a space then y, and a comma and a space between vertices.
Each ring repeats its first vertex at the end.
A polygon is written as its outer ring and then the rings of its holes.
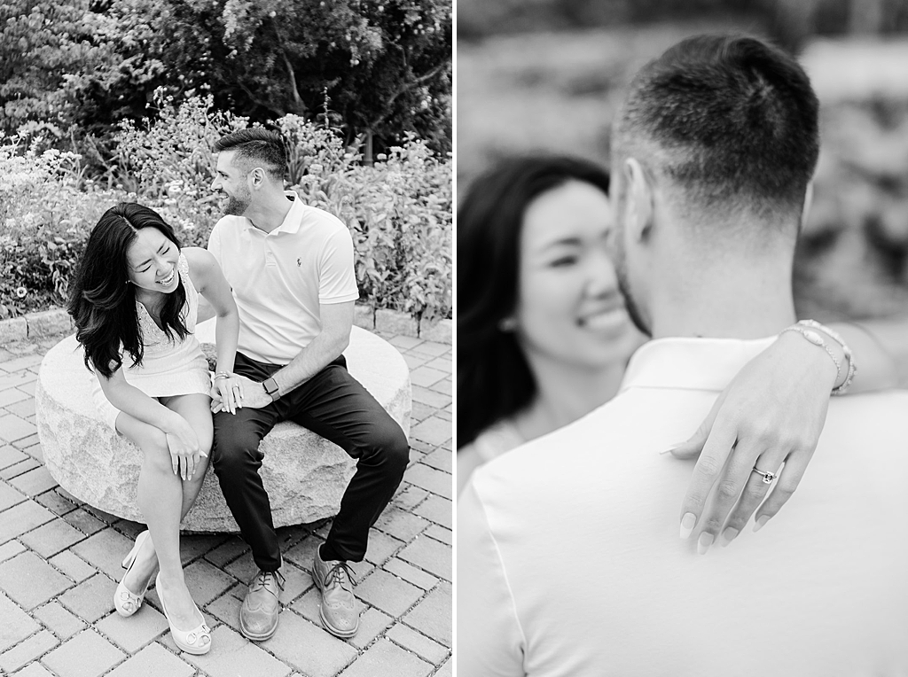
POLYGON ((289 419, 357 459, 341 510, 312 564, 321 622, 330 633, 352 637, 360 607, 347 562, 365 555, 369 529, 400 485, 410 446, 400 426, 350 377, 341 354, 359 298, 350 231, 284 192, 287 154, 276 132, 232 132, 213 151, 212 189, 225 195, 227 216, 214 226, 208 249, 240 310, 234 369, 245 379, 236 415, 214 415, 212 465, 260 569, 242 604, 240 628, 255 641, 277 630, 281 549, 259 476, 259 443, 289 419))

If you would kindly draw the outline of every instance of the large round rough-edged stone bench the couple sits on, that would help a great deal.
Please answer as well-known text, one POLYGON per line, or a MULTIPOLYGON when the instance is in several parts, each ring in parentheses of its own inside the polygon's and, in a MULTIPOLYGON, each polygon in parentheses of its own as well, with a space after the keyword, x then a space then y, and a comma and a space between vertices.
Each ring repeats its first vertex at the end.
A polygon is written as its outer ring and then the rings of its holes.
MULTIPOLYGON (((212 344, 214 320, 200 323, 196 336, 202 348, 212 344)), ((410 370, 400 352, 384 339, 354 327, 344 355, 350 374, 409 436, 410 370)), ((84 368, 82 347, 74 335, 44 356, 35 387, 35 419, 44 465, 79 500, 143 522, 136 498, 142 452, 101 421, 92 401, 93 379, 84 368)), ((341 495, 356 468, 340 446, 287 421, 271 430, 261 448, 260 473, 271 498, 275 526, 308 524, 337 514, 341 495)), ((182 529, 239 531, 211 464, 182 529)))

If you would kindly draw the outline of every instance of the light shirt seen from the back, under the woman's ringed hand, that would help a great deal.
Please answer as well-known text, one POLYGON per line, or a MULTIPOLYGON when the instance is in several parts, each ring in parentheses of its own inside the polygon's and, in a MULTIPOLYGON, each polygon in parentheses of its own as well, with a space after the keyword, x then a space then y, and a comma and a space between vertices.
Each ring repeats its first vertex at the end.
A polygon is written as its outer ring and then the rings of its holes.
POLYGON ((834 397, 759 533, 704 555, 678 537, 694 461, 659 452, 772 340, 651 341, 611 402, 474 473, 458 674, 908 674, 908 393, 834 397))

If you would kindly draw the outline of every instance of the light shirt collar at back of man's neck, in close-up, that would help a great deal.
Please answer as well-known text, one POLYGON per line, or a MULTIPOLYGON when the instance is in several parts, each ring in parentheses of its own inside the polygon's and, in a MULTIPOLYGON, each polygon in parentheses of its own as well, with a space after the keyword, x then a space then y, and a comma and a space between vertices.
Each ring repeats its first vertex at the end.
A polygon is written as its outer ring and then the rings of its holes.
POLYGON ((776 337, 766 339, 656 339, 630 359, 619 392, 671 388, 721 392, 776 337))

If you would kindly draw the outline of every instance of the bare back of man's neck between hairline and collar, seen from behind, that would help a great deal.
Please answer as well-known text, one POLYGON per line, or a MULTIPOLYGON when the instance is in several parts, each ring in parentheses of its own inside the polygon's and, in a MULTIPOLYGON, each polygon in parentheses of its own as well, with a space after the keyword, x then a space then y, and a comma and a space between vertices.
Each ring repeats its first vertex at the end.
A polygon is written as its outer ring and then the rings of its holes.
POLYGON ((654 339, 762 339, 795 322, 785 260, 725 259, 676 277, 654 290, 654 339))

